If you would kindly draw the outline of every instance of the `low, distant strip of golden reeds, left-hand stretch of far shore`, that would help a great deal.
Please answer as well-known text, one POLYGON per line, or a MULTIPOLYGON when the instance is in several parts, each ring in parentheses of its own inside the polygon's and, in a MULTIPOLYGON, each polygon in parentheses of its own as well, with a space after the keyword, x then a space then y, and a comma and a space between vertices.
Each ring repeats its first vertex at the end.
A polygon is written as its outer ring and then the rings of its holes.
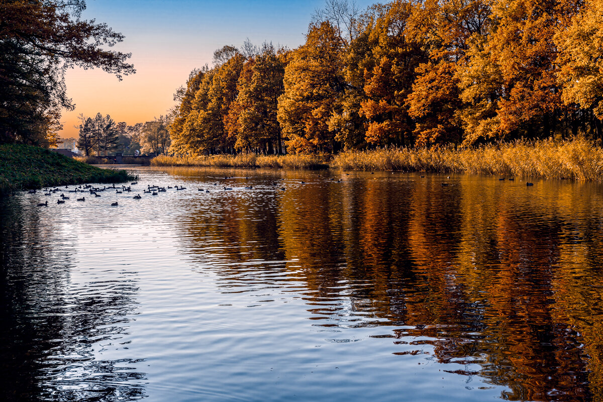
POLYGON ((320 155, 213 155, 175 157, 159 155, 151 159, 153 166, 213 166, 216 168, 326 169, 326 158, 320 155))

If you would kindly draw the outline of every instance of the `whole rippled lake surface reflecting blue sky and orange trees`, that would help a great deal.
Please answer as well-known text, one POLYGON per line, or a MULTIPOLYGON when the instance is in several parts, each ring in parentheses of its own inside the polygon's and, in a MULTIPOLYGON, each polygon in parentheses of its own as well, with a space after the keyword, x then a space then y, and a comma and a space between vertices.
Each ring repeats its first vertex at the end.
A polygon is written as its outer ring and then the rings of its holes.
POLYGON ((603 186, 139 174, 0 200, 0 400, 603 399, 603 186))

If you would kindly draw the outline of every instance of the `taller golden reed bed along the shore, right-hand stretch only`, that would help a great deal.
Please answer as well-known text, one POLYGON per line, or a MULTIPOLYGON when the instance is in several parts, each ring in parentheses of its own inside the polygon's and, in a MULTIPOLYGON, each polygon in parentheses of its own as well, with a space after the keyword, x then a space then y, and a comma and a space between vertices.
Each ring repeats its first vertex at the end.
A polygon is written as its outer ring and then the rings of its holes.
POLYGON ((584 138, 517 141, 476 148, 346 151, 332 166, 356 170, 466 172, 517 177, 603 180, 603 148, 584 138))

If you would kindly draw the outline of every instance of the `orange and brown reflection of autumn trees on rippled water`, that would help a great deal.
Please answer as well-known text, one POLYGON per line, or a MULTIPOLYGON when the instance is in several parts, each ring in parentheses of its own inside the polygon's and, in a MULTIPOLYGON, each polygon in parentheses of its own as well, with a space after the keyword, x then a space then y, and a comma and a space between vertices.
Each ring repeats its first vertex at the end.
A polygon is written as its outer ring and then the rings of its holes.
POLYGON ((215 269, 239 281, 270 283, 264 268, 279 262, 279 272, 305 281, 300 292, 320 325, 403 325, 391 332, 405 348, 395 353, 427 345, 449 371, 507 387, 505 399, 601 394, 598 192, 309 176, 285 192, 214 198, 212 221, 200 209, 184 226, 189 247, 219 253, 215 269), (256 268, 240 264, 250 260, 256 268))

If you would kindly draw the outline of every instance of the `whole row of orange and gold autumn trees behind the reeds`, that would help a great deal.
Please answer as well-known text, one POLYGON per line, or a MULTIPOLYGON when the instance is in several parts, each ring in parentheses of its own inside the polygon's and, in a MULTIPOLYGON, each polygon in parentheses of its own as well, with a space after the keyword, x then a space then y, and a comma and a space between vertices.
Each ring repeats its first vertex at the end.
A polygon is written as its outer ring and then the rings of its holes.
POLYGON ((175 94, 174 154, 601 139, 603 2, 327 0, 296 49, 224 46, 175 94))

